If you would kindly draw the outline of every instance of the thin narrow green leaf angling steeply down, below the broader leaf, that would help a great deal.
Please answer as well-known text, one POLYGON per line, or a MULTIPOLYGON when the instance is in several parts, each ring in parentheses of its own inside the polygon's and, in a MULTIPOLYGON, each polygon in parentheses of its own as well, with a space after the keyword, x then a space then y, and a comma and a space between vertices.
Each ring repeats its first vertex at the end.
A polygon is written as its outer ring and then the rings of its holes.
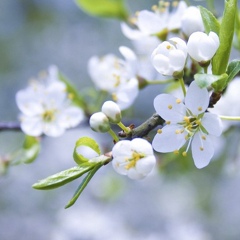
POLYGON ((67 203, 67 205, 65 206, 65 208, 69 208, 71 207, 79 198, 80 194, 83 192, 83 190, 85 189, 85 187, 88 185, 89 181, 92 179, 92 177, 94 176, 94 174, 98 171, 99 168, 101 168, 103 166, 103 163, 99 163, 97 164, 91 171, 89 171, 89 173, 87 174, 87 176, 83 179, 83 181, 81 182, 81 184, 79 185, 79 187, 77 188, 76 192, 74 193, 73 197, 71 198, 71 200, 67 203))

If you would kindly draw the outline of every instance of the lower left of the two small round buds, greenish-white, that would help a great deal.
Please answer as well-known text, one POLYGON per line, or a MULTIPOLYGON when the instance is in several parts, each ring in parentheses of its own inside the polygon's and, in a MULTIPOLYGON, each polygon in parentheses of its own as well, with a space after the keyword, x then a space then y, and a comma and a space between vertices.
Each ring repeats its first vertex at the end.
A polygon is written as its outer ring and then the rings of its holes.
POLYGON ((102 112, 94 113, 90 117, 89 124, 95 132, 108 132, 110 130, 109 120, 102 112))

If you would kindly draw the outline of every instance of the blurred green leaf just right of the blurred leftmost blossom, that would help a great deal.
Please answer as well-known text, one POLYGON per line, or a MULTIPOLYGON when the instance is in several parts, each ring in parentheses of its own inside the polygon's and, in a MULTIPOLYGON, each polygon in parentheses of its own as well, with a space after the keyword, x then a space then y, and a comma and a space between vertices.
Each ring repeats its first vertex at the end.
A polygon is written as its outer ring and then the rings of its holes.
POLYGON ((58 73, 58 77, 60 81, 65 83, 67 87, 68 96, 71 99, 71 101, 86 111, 87 105, 83 97, 79 94, 79 91, 75 88, 75 86, 73 86, 73 84, 62 73, 58 73))

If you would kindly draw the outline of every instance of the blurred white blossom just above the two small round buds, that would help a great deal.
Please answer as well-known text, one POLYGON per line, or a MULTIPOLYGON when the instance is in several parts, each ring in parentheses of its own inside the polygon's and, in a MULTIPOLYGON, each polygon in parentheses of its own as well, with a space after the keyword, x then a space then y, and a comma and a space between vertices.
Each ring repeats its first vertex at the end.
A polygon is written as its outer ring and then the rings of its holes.
POLYGON ((93 56, 89 60, 89 74, 100 90, 112 94, 112 98, 121 109, 132 105, 138 95, 138 80, 136 79, 137 58, 127 47, 119 48, 126 60, 113 54, 101 58, 93 56))

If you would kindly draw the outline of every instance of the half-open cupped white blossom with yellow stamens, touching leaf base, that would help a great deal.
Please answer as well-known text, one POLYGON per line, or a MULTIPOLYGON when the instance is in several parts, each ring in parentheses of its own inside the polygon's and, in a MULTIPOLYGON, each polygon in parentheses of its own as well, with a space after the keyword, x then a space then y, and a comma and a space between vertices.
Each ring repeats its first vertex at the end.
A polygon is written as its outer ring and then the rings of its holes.
POLYGON ((112 155, 114 170, 131 179, 145 178, 156 163, 151 144, 142 138, 117 142, 112 155))

